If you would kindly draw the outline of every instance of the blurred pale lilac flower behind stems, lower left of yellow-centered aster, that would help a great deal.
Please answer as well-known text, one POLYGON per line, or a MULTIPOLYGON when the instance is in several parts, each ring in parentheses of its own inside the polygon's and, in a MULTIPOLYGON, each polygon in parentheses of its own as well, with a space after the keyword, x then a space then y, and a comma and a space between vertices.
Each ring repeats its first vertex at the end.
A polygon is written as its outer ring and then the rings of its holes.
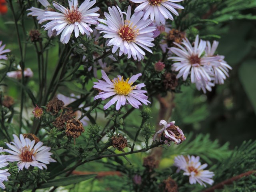
MULTIPOLYGON (((64 102, 64 107, 68 106, 69 104, 71 104, 72 102, 74 102, 75 100, 77 99, 80 99, 79 96, 75 96, 75 94, 70 94, 70 97, 67 97, 63 94, 57 94, 57 98, 59 100, 62 100, 64 102)), ((83 107, 83 104, 80 104, 78 106, 78 108, 82 108, 83 107)), ((84 108, 84 110, 89 110, 89 108, 84 108)), ((82 116, 82 112, 80 110, 76 110, 75 112, 75 115, 76 115, 76 119, 78 120, 81 116, 82 116)), ((83 117, 80 122, 82 122, 82 124, 84 126, 88 125, 88 122, 89 122, 89 118, 88 117, 83 117)))

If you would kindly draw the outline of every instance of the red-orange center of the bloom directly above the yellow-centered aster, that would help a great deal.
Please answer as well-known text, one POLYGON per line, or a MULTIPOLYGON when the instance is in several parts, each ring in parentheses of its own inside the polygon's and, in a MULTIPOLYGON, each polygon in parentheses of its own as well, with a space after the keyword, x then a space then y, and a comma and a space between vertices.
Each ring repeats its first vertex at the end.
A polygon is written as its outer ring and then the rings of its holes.
MULTIPOLYGON (((128 23, 130 23, 130 21, 128 21, 128 23)), ((124 41, 134 41, 135 37, 138 35, 138 30, 134 30, 134 28, 136 28, 136 26, 134 26, 133 28, 126 24, 124 26, 121 26, 121 28, 119 29, 119 36, 124 41)))

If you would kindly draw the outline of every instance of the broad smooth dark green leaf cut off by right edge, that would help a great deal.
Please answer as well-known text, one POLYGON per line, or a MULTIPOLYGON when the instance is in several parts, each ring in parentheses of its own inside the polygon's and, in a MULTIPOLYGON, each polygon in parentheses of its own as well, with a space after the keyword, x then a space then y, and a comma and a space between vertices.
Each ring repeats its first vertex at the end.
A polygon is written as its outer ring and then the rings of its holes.
POLYGON ((244 90, 252 103, 256 114, 256 60, 248 60, 242 63, 238 70, 239 79, 244 87, 244 90))

